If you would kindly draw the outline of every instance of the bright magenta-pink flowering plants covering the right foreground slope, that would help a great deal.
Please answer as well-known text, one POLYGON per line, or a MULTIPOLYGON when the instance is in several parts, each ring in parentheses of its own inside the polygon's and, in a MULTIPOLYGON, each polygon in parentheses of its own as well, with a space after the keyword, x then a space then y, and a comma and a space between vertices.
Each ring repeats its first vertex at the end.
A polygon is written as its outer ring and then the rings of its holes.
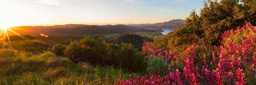
MULTIPOLYGON (((236 31, 225 31, 222 34, 222 42, 218 50, 215 50, 212 46, 190 45, 182 55, 185 58, 183 59, 183 72, 180 74, 182 78, 179 78, 179 81, 181 81, 180 84, 254 85, 256 81, 256 44, 254 43, 256 40, 254 38, 255 35, 253 35, 256 31, 254 30, 254 26, 247 23, 242 28, 239 27, 236 31), (237 42, 240 40, 241 42, 237 42), (212 54, 212 58, 209 58, 210 53, 212 54)), ((169 59, 173 55, 166 55, 168 51, 166 52, 166 49, 160 46, 158 50, 153 46, 149 48, 147 42, 143 44, 143 51, 150 56, 164 57, 167 61, 170 60, 172 62, 178 60, 178 57, 176 59, 169 59)), ((177 69, 176 73, 177 71, 180 70, 177 69)), ((174 79, 171 76, 174 74, 175 71, 170 70, 170 74, 163 78, 160 78, 160 76, 154 76, 153 78, 146 76, 146 78, 142 77, 141 79, 140 77, 135 77, 129 80, 119 78, 115 84, 143 85, 144 83, 148 84, 152 82, 157 84, 177 84, 178 80, 175 82, 175 76, 174 79)))

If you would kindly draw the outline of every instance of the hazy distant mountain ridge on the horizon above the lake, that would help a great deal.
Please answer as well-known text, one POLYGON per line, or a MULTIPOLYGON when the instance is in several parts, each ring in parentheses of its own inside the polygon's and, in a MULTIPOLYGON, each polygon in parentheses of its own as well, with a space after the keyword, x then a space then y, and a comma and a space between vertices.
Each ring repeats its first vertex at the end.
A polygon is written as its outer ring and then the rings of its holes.
POLYGON ((134 26, 137 28, 181 28, 184 26, 185 20, 175 19, 163 23, 153 24, 128 24, 127 26, 134 26))

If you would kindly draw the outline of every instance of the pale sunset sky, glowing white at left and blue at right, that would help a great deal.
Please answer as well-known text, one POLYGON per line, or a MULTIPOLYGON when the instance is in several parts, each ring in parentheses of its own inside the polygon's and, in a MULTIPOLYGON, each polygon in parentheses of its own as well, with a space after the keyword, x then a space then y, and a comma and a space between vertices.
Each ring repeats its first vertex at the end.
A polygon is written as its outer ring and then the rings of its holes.
POLYGON ((0 0, 0 25, 160 23, 199 12, 204 0, 0 0))

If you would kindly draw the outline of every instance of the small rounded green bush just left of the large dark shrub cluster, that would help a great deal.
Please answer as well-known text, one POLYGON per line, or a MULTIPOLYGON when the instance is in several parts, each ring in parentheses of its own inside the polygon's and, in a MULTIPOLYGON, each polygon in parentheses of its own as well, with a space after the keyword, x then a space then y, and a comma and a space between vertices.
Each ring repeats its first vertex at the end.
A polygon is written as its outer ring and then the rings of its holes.
POLYGON ((66 48, 67 47, 65 45, 57 44, 57 45, 53 46, 52 48, 49 48, 48 50, 53 52, 57 56, 63 56, 66 48))

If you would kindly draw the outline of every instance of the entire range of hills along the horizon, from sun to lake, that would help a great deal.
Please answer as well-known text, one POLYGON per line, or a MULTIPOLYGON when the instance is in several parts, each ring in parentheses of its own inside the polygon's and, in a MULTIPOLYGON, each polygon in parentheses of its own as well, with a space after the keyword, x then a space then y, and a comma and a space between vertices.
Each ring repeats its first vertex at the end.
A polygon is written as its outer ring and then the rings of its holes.
MULTIPOLYGON (((67 24, 55 26, 17 26, 12 28, 19 34, 30 35, 60 35, 60 34, 125 34, 133 32, 155 32, 144 28, 180 28, 184 25, 184 20, 171 20, 163 23, 154 24, 129 24, 129 25, 84 25, 67 24)), ((8 32, 13 35, 12 32, 8 32)))

